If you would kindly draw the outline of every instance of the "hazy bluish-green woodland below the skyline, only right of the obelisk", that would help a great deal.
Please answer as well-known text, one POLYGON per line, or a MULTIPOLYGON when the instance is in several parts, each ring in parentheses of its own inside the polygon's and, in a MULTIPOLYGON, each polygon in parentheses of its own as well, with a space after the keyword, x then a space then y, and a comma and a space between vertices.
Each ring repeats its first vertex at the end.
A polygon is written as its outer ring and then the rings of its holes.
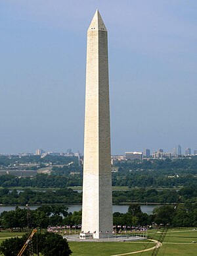
POLYGON ((120 161, 114 166, 112 185, 128 187, 178 187, 197 185, 197 156, 173 160, 120 161))

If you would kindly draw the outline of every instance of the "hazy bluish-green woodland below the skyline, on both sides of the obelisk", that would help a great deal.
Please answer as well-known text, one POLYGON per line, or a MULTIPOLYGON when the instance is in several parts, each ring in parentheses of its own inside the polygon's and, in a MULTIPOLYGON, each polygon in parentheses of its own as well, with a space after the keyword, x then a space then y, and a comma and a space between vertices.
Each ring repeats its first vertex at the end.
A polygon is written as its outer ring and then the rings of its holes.
MULTIPOLYGON (((26 156, 22 158, 8 158, 0 156, 0 164, 9 165, 29 163, 26 169, 37 168, 52 164, 51 175, 37 174, 35 177, 14 177, 9 175, 0 176, 1 187, 66 187, 82 185, 82 167, 78 165, 77 158, 65 156, 26 156), (71 162, 70 162, 71 161, 71 162), (31 166, 37 163, 37 166, 31 166), (62 164, 64 166, 59 166, 62 164)), ((18 167, 19 168, 19 167, 18 167)), ((192 158, 175 158, 173 160, 146 160, 142 162, 120 161, 112 168, 112 185, 128 187, 179 187, 197 185, 197 156, 192 158)), ((17 169, 16 169, 17 170, 17 169)))

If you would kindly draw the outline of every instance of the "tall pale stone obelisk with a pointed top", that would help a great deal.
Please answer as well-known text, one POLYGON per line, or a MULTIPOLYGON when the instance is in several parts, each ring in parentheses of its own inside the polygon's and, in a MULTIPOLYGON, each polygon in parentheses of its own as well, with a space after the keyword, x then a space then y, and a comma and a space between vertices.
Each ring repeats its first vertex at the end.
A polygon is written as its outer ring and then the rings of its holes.
POLYGON ((82 231, 112 235, 108 34, 97 10, 87 30, 82 231))

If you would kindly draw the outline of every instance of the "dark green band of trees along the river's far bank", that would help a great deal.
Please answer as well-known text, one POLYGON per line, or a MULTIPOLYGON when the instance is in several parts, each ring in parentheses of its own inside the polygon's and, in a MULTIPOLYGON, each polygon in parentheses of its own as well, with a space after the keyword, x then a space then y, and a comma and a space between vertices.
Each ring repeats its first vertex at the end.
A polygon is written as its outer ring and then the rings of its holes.
MULTIPOLYGON (((197 187, 189 186, 176 189, 131 189, 129 191, 113 191, 114 204, 120 203, 176 203, 181 196, 181 202, 197 202, 197 187)), ((46 191, 34 191, 24 189, 17 191, 8 188, 0 189, 0 204, 3 205, 45 205, 45 204, 70 204, 82 203, 82 193, 72 189, 48 189, 46 191)))

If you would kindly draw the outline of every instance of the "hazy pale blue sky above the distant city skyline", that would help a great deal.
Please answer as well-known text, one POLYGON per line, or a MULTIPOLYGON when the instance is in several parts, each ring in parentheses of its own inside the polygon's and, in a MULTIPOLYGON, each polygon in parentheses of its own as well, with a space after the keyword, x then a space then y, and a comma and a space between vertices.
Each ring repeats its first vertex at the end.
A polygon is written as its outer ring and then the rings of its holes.
POLYGON ((1 0, 0 153, 83 152, 97 8, 108 29, 112 154, 197 149, 196 0, 1 0))

